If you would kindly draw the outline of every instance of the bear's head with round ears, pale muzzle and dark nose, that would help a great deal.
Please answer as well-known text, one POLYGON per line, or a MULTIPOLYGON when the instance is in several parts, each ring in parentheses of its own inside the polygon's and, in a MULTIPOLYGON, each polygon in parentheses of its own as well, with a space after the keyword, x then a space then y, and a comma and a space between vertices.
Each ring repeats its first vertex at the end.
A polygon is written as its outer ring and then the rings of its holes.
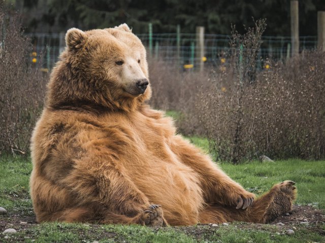
POLYGON ((151 96, 146 50, 126 24, 69 29, 48 85, 50 107, 134 110, 151 96))

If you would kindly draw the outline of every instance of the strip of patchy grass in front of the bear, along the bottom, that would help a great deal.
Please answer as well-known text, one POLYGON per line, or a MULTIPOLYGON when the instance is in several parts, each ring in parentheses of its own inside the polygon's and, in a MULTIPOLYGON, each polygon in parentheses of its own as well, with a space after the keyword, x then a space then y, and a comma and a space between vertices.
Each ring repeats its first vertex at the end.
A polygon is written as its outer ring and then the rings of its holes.
MULTIPOLYGON (((1 242, 324 242, 325 238, 310 229, 301 228, 294 235, 284 234, 276 226, 252 227, 249 224, 229 226, 191 226, 149 228, 139 225, 94 225, 42 223, 16 234, 1 242), (242 226, 246 228, 242 228, 242 226), (250 227, 250 228, 247 228, 250 227), (277 234, 278 233, 278 234, 277 234), (33 240, 33 241, 32 241, 33 240)), ((0 240, 2 235, 0 234, 0 240)))

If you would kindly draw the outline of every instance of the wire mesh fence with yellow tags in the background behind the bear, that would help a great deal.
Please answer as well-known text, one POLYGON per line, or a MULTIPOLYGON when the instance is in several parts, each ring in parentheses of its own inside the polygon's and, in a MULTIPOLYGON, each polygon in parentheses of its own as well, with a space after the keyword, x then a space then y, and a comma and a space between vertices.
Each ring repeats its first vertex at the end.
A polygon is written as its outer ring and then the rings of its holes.
MULTIPOLYGON (((42 60, 44 70, 50 70, 62 50, 64 50, 64 33, 26 33, 34 46, 31 61, 42 60), (40 59, 40 57, 42 57, 40 59)), ((197 58, 196 34, 188 33, 161 33, 138 34, 146 46, 148 55, 152 58, 163 60, 179 68, 196 68, 198 61, 207 65, 220 65, 227 62, 230 51, 230 35, 205 34, 203 60, 197 58)), ((258 53, 257 68, 265 67, 269 61, 285 61, 290 57, 290 36, 263 36, 261 49, 258 53)), ((301 36, 300 52, 317 48, 317 36, 301 36)))

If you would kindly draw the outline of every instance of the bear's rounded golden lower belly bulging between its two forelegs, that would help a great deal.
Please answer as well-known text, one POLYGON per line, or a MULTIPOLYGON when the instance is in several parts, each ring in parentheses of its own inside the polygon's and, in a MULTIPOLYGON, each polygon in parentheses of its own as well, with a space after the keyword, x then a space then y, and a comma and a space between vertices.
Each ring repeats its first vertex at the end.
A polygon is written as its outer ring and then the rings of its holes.
POLYGON ((145 159, 147 165, 143 165, 143 170, 133 168, 128 176, 148 197, 150 204, 163 207, 169 223, 198 223, 203 195, 197 173, 175 157, 166 161, 147 155, 149 159, 145 159))

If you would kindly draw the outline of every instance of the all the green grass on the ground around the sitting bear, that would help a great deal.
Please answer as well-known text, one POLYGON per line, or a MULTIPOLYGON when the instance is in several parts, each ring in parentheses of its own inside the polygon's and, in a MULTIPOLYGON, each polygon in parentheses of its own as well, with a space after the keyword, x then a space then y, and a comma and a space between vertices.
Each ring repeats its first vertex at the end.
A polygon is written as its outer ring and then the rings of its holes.
MULTIPOLYGON (((206 139, 189 139, 207 150, 206 139)), ((253 161, 237 166, 222 163, 219 166, 247 190, 256 194, 267 191, 274 183, 286 179, 294 180, 299 191, 297 204, 312 203, 325 209, 324 161, 290 159, 275 163, 253 161)), ((10 217, 16 214, 22 217, 33 216, 28 193, 31 169, 29 158, 6 155, 0 157, 0 207, 9 212, 8 216, 0 215, 0 221, 10 221, 10 217)), ((31 225, 24 230, 18 229, 18 233, 9 235, 6 239, 0 232, 0 242, 325 242, 325 237, 311 230, 312 227, 301 227, 294 235, 288 236, 284 234, 284 229, 276 226, 247 223, 219 227, 197 225, 168 228, 43 223, 31 225)), ((324 225, 320 227, 325 231, 324 225)))

